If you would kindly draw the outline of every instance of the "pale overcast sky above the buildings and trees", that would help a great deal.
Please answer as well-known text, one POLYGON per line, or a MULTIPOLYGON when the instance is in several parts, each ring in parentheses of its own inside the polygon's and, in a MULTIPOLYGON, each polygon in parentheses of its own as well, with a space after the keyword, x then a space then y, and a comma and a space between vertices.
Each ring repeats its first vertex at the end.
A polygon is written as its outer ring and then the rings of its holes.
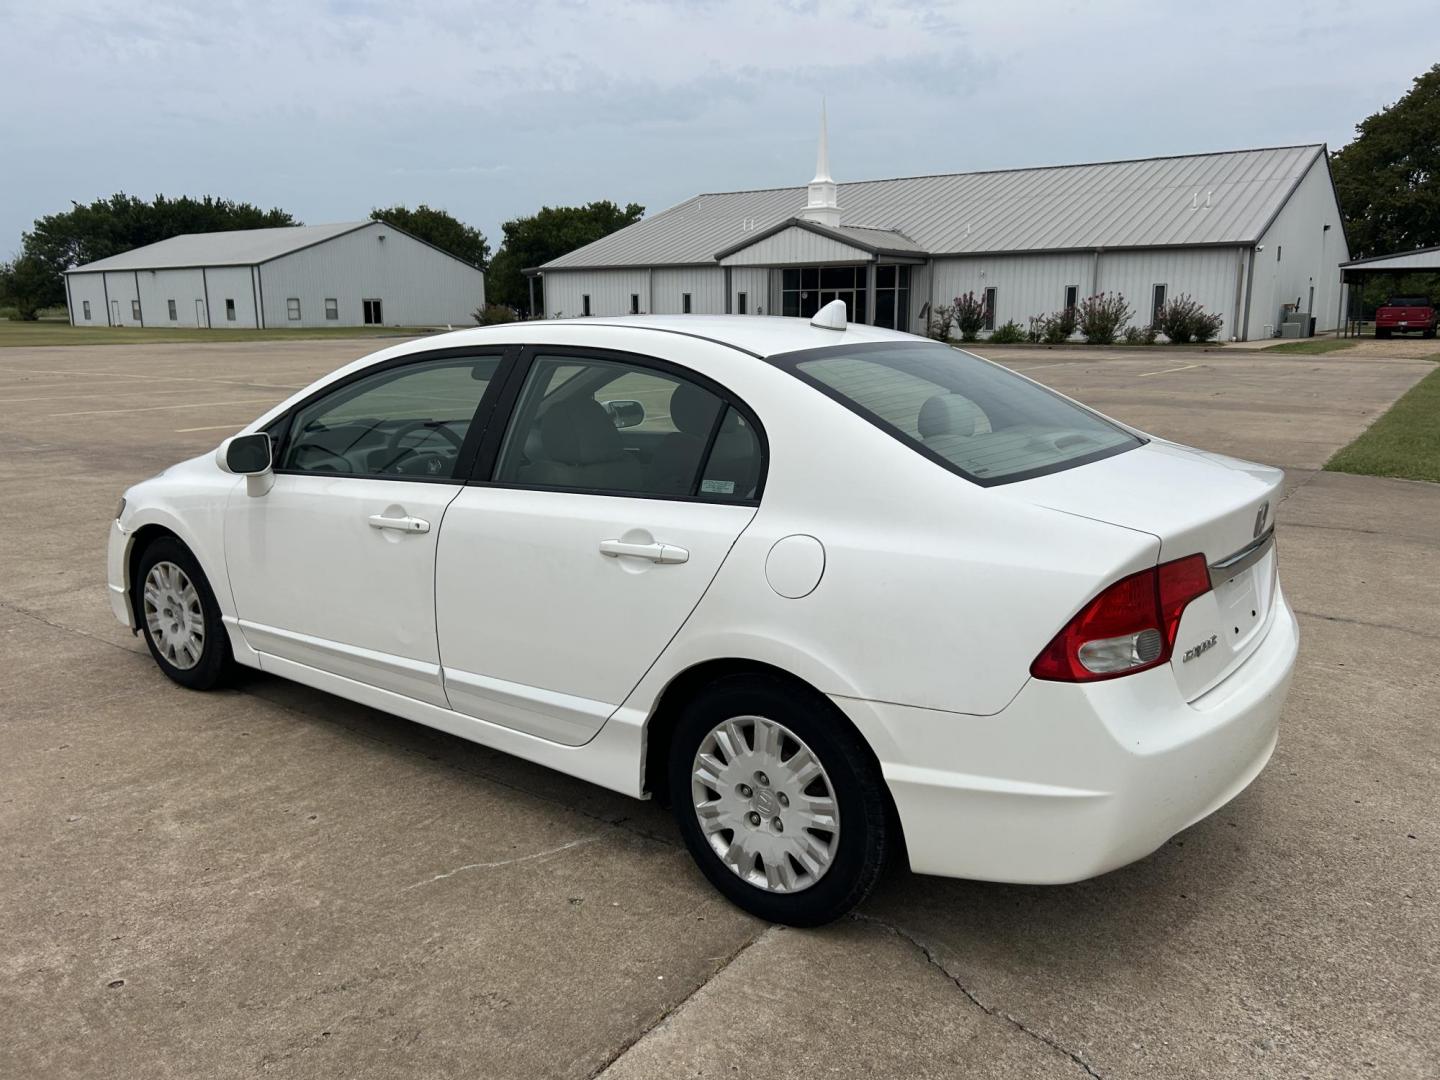
POLYGON ((112 192, 307 223, 1326 141, 1440 58, 1434 0, 0 0, 0 255, 112 192), (1378 45, 1382 42, 1384 45, 1378 45))

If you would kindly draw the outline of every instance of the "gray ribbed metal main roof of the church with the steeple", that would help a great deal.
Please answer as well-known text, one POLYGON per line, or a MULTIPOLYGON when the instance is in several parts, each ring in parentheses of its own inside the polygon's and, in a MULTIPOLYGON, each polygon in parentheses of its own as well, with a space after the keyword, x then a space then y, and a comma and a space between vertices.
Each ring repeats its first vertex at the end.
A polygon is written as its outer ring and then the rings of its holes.
MULTIPOLYGON (((1312 144, 865 180, 838 186, 841 232, 900 233, 932 255, 1254 243, 1323 153, 1312 144)), ((714 265, 805 202, 804 186, 700 194, 540 269, 714 265)))

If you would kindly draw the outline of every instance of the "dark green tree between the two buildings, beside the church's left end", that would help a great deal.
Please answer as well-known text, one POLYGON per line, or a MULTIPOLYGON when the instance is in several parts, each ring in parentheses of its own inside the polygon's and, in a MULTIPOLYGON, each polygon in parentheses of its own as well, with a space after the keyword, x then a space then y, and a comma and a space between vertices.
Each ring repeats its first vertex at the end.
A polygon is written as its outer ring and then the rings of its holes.
MULTIPOLYGON (((530 317, 530 285, 524 271, 557 259, 576 248, 609 236, 645 216, 645 207, 629 203, 624 209, 608 199, 586 206, 546 206, 528 217, 505 222, 500 251, 485 275, 485 298, 530 317)), ((536 308, 544 311, 543 279, 536 281, 536 308)), ((572 312, 579 314, 579 312, 572 312)))

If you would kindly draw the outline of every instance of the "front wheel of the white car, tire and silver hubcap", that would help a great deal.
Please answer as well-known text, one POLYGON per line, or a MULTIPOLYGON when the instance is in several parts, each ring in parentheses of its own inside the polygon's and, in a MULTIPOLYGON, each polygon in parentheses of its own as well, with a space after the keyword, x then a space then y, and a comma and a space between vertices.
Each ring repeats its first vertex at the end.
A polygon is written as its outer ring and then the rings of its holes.
POLYGON ((174 537, 161 537, 140 556, 135 616, 156 664, 190 690, 210 690, 233 665, 230 641, 200 564, 174 537))

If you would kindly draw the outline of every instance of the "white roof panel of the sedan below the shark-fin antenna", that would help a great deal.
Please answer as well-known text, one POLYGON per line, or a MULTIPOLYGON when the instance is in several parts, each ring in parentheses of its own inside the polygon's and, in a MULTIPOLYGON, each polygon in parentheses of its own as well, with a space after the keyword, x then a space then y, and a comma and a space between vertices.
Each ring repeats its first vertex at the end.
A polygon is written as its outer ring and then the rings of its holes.
POLYGON ((492 327, 472 327, 445 334, 446 344, 514 344, 523 341, 573 343, 577 328, 619 327, 625 330, 648 330, 655 334, 684 334, 717 344, 739 348, 757 357, 795 353, 802 348, 825 348, 828 346, 860 344, 870 341, 920 341, 914 334, 904 334, 883 327, 868 327, 850 323, 844 330, 827 330, 812 325, 808 318, 786 318, 780 315, 624 315, 615 318, 546 318, 528 323, 503 323, 492 327), (560 331, 560 333, 556 333, 560 331))

